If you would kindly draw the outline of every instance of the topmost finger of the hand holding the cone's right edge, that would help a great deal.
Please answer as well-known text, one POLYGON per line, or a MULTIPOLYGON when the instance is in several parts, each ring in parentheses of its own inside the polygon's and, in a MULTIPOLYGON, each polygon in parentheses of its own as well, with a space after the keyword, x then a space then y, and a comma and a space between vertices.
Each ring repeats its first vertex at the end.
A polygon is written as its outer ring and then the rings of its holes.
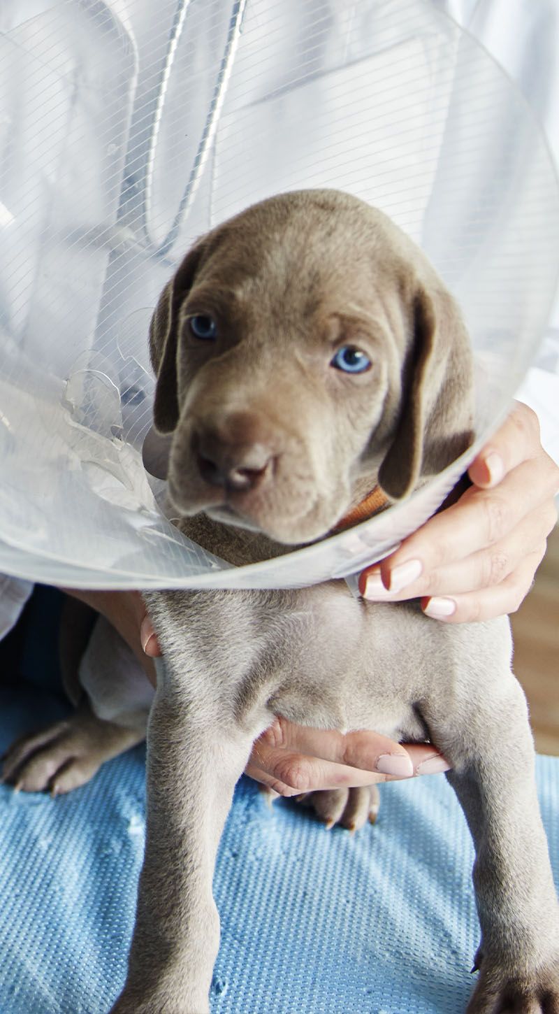
POLYGON ((487 489, 498 485, 508 472, 541 451, 538 416, 527 405, 516 402, 504 423, 482 447, 468 474, 476 486, 487 489))

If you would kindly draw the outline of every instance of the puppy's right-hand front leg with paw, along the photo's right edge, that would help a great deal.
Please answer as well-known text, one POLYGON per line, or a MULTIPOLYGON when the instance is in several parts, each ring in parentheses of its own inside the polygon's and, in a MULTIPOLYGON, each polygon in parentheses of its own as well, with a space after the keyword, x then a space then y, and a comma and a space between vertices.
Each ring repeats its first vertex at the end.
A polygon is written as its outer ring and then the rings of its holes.
POLYGON ((476 702, 465 728, 458 746, 450 729, 434 736, 476 848, 480 977, 468 1014, 558 1014, 559 906, 526 701, 510 673, 498 697, 476 702))

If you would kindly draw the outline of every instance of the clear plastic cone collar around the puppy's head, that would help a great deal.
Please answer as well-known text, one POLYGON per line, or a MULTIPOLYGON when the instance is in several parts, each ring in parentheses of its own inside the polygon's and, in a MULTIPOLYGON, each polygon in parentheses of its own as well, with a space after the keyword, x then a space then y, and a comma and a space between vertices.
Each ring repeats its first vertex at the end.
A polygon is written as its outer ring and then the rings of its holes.
POLYGON ((559 190, 522 95, 421 0, 32 6, 21 20, 8 0, 0 35, 0 570, 88 587, 282 587, 381 557, 502 418, 547 323, 559 190), (310 187, 389 214, 458 298, 477 442, 379 517, 228 567, 162 515, 142 464, 148 324, 201 233, 310 187))

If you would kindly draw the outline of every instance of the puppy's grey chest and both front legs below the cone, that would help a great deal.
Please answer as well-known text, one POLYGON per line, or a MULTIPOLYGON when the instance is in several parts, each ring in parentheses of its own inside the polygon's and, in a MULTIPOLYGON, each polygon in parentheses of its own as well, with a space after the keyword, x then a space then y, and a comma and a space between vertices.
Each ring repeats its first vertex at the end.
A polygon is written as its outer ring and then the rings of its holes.
POLYGON ((148 733, 138 922, 115 1011, 208 1009, 216 850, 235 782, 273 715, 408 741, 430 734, 477 846, 482 972, 469 1009, 505 1010, 487 997, 526 994, 528 1011, 556 989, 557 904, 506 621, 457 633, 412 605, 364 605, 339 582, 148 601, 165 664, 148 733))

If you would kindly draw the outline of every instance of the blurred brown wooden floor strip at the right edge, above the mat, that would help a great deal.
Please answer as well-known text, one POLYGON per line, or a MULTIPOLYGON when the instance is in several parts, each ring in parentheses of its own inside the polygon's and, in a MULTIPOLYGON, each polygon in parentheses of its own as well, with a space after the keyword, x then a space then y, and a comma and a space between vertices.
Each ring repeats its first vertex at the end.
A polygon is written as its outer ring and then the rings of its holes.
POLYGON ((530 705, 536 748, 559 755, 559 527, 511 623, 513 668, 530 705))

